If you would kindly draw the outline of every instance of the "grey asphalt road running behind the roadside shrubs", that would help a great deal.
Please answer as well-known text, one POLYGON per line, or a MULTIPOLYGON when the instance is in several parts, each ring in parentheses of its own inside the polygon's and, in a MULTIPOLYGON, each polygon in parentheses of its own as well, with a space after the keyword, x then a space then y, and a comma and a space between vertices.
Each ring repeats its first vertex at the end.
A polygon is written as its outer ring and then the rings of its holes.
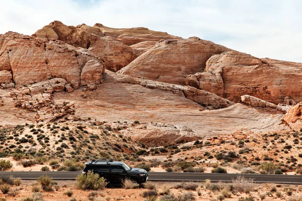
MULTIPOLYGON (((48 171, 48 172, 0 172, 0 177, 13 175, 23 180, 35 180, 41 175, 49 175, 54 180, 74 180, 81 171, 48 171)), ((277 175, 277 174, 220 174, 220 173, 190 173, 190 172, 149 172, 150 181, 204 181, 231 182, 238 176, 252 178, 256 183, 288 183, 302 184, 302 175, 277 175)))

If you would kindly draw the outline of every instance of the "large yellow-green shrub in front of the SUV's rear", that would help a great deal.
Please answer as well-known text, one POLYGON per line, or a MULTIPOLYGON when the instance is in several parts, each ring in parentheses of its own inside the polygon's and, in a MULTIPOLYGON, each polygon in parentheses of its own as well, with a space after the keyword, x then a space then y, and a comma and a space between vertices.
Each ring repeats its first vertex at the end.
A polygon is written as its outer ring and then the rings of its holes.
POLYGON ((99 174, 88 171, 87 174, 80 174, 75 178, 77 185, 80 189, 84 190, 98 190, 104 189, 107 185, 106 179, 104 177, 99 177, 99 174))

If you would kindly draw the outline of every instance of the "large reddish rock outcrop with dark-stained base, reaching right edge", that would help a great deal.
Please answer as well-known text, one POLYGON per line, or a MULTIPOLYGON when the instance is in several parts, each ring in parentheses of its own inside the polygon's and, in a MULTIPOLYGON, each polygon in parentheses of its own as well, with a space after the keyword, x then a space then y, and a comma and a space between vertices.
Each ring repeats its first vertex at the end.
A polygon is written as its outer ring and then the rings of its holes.
POLYGON ((249 94, 274 104, 302 99, 302 63, 259 59, 229 51, 212 56, 205 71, 187 76, 186 83, 234 102, 249 94))

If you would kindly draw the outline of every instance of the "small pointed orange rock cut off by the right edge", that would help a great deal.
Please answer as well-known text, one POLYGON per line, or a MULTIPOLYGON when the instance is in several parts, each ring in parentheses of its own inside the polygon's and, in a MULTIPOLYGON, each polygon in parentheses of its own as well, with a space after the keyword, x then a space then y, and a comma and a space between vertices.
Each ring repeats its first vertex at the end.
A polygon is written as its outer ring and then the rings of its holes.
POLYGON ((287 124, 291 129, 299 131, 302 129, 302 102, 293 106, 289 111, 282 117, 282 122, 287 124))

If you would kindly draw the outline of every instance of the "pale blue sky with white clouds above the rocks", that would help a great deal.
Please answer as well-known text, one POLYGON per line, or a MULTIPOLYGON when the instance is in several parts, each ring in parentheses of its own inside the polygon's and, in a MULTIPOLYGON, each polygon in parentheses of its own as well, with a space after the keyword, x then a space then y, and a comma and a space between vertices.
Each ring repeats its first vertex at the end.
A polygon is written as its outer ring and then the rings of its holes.
POLYGON ((31 35, 54 20, 146 27, 197 36, 260 58, 302 62, 299 0, 10 0, 1 5, 0 34, 31 35))

